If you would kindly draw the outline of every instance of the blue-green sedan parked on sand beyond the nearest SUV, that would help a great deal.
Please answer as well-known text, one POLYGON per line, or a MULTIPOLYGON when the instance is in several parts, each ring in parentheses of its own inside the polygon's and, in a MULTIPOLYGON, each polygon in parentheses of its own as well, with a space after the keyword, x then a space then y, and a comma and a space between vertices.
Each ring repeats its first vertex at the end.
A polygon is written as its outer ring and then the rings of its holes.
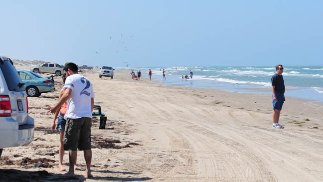
POLYGON ((55 86, 53 80, 43 78, 34 72, 27 70, 17 70, 20 79, 25 84, 27 95, 30 97, 39 97, 41 93, 54 92, 55 86))

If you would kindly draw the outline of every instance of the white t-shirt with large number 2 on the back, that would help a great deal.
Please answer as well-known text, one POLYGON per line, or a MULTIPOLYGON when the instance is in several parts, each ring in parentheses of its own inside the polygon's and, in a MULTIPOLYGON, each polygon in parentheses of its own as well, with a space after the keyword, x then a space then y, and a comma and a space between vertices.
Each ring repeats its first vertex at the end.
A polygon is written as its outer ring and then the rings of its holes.
POLYGON ((63 89, 72 89, 67 100, 67 111, 64 119, 92 118, 91 98, 94 97, 92 83, 81 74, 73 74, 66 78, 63 89))

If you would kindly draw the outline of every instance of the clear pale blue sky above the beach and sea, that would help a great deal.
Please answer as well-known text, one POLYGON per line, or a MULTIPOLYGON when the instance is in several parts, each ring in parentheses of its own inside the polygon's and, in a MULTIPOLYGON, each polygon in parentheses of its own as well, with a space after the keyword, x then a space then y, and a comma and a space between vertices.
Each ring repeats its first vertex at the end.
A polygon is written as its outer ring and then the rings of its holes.
POLYGON ((0 5, 0 54, 12 59, 115 67, 323 65, 322 0, 0 5))

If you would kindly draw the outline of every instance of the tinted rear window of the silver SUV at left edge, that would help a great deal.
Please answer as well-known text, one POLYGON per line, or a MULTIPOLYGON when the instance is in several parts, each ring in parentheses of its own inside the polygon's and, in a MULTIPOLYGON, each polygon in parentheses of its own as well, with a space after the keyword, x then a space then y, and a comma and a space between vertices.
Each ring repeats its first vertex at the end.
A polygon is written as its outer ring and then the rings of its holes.
POLYGON ((4 60, 3 64, 0 63, 0 68, 10 91, 24 91, 20 76, 10 61, 4 60))

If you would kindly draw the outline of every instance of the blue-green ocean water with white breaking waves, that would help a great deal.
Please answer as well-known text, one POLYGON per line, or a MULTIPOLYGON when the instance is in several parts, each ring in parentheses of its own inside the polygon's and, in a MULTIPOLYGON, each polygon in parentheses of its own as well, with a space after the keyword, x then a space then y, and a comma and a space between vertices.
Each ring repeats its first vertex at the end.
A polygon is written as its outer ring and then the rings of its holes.
MULTIPOLYGON (((141 70, 144 77, 149 69, 153 72, 153 79, 161 80, 166 85, 269 95, 269 89, 255 88, 270 88, 271 77, 276 72, 274 66, 116 68, 134 70, 136 73, 141 70), (162 69, 165 69, 166 80, 162 80, 162 69), (189 70, 193 72, 193 79, 181 79, 181 75, 189 75, 189 70)), ((284 66, 283 76, 288 89, 286 96, 323 101, 323 66, 284 66)))

